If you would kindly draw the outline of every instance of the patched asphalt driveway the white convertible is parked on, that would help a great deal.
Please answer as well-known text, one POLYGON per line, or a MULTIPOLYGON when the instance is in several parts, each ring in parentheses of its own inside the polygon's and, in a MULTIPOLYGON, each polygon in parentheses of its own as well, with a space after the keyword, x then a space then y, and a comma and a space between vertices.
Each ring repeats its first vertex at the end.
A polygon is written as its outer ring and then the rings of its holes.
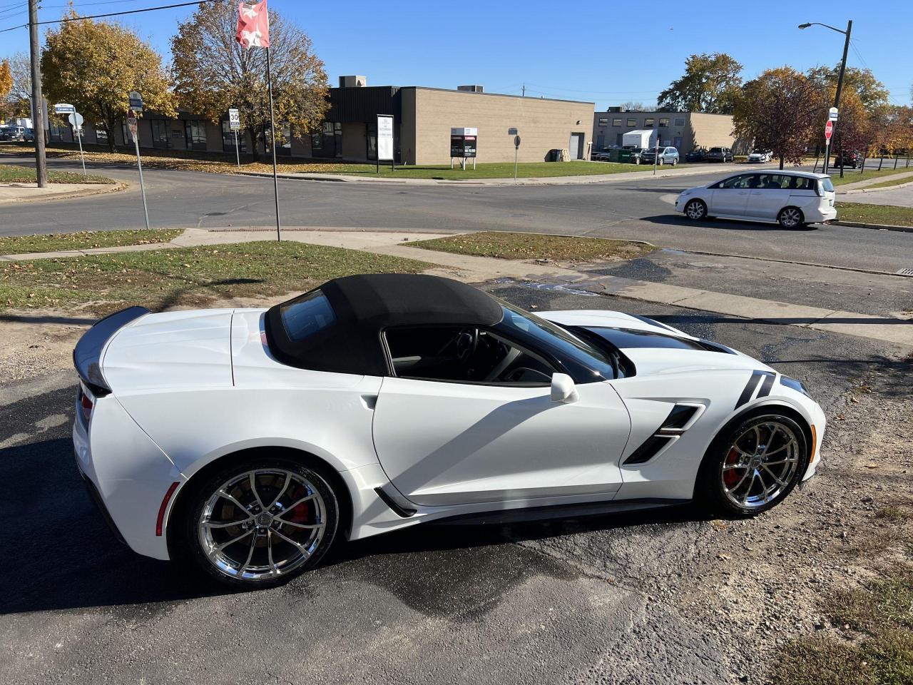
POLYGON ((876 489, 878 474, 857 478, 841 459, 866 446, 873 412, 890 424, 903 409, 908 351, 607 297, 489 290, 539 310, 656 316, 799 378, 831 421, 820 475, 747 522, 685 507, 426 525, 343 543, 284 587, 226 593, 114 542, 73 464, 67 374, 20 381, 0 392, 0 501, 16 514, 0 532, 0 682, 763 682, 778 646, 815 629, 821 597, 853 581, 829 545, 834 526, 855 534, 859 489, 876 489), (862 382, 869 394, 848 404, 862 382))

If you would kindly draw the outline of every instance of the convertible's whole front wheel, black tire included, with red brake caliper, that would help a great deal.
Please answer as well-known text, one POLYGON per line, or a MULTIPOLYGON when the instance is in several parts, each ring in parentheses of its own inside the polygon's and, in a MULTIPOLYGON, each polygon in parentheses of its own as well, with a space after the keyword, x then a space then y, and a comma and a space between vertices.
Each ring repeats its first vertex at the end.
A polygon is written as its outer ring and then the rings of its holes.
POLYGON ((750 416, 714 440, 698 490, 716 511, 752 516, 783 501, 802 479, 808 458, 803 429, 791 416, 750 416))

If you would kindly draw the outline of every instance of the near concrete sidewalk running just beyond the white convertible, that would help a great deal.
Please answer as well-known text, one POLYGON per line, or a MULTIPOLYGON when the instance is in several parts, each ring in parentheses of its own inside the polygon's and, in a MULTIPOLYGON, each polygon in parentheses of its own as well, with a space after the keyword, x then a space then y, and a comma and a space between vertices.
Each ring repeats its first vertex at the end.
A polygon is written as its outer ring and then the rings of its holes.
MULTIPOLYGON (((0 259, 15 261, 201 245, 222 245, 226 243, 270 240, 273 235, 272 229, 210 231, 201 228, 187 228, 180 237, 176 237, 171 243, 165 244, 96 248, 30 255, 6 255, 0 257, 0 259)), ((434 269, 429 269, 429 273, 436 273, 466 282, 512 279, 527 283, 531 287, 578 290, 593 293, 594 295, 613 295, 629 300, 642 300, 675 305, 687 309, 712 311, 747 320, 768 321, 816 331, 854 335, 905 345, 913 349, 913 321, 910 320, 873 316, 853 311, 809 307, 777 300, 761 300, 729 293, 626 279, 617 276, 593 275, 586 271, 560 267, 554 264, 436 252, 414 248, 408 244, 416 240, 445 237, 446 235, 441 233, 411 233, 407 231, 340 231, 288 228, 283 232, 283 239, 312 245, 358 249, 395 257, 421 259, 438 265, 434 269)))

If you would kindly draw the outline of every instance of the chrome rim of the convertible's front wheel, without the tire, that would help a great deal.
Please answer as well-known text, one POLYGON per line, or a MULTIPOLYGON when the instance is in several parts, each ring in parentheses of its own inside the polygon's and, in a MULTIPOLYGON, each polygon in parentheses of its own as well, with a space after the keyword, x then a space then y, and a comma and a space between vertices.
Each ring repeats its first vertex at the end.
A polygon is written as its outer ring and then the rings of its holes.
POLYGON ((801 456, 791 427, 776 420, 750 426, 723 459, 723 492, 741 509, 762 507, 789 487, 801 456))

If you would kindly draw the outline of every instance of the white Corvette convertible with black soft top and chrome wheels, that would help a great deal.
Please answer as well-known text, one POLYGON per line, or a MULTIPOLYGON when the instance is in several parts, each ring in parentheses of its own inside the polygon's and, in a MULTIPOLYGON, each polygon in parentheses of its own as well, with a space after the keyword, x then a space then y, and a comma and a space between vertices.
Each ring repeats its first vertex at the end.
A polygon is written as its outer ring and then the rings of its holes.
POLYGON ((269 310, 131 307, 73 356, 77 463, 113 531, 247 587, 339 536, 448 517, 750 515, 813 475, 824 435, 800 383, 716 342, 432 276, 269 310))

